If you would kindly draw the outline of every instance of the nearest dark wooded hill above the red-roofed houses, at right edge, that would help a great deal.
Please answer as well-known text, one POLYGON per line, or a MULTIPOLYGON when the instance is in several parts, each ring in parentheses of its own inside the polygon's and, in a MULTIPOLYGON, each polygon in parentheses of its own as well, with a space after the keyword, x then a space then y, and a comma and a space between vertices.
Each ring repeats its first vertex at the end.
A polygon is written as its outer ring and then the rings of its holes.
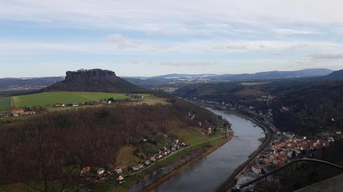
POLYGON ((272 106, 274 124, 284 131, 342 131, 343 82, 319 83, 279 96, 272 106), (281 106, 289 110, 279 110, 281 106))

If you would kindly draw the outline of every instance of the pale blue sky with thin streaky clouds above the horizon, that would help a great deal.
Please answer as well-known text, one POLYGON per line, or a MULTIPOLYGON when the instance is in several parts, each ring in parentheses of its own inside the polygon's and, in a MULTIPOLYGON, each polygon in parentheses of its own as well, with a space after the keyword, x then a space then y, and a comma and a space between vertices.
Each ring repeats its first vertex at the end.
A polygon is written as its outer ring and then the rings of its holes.
POLYGON ((343 68, 342 0, 1 0, 0 78, 343 68))

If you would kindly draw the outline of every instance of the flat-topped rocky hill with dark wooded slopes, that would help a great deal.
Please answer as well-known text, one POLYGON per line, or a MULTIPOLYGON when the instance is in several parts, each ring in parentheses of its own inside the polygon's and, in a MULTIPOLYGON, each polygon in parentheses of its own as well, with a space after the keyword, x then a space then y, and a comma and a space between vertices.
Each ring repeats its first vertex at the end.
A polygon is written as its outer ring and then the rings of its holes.
POLYGON ((68 71, 64 81, 54 83, 42 89, 43 92, 115 92, 136 93, 144 90, 137 85, 117 77, 110 70, 78 70, 68 71))

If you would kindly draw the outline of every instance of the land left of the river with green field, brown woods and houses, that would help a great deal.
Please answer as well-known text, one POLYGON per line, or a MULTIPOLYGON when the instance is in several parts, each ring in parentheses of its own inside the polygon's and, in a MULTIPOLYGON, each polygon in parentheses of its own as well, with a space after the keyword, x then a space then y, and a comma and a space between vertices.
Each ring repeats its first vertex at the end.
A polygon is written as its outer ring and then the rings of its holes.
POLYGON ((9 174, 0 189, 5 191, 126 191, 163 167, 196 162, 233 137, 226 120, 158 92, 43 90, 1 101, 6 104, 1 154, 8 155, 0 159, 0 171, 9 174), (23 139, 15 142, 18 138, 23 139), (17 171, 9 172, 13 166, 17 171))

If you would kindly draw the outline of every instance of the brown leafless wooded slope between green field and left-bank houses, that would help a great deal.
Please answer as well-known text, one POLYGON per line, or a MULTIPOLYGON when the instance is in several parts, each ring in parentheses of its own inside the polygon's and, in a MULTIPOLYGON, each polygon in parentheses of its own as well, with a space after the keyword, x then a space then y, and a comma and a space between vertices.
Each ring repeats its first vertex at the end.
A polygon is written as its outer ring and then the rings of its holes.
POLYGON ((84 166, 110 166, 117 150, 147 134, 220 123, 210 111, 169 98, 170 105, 139 105, 46 113, 1 125, 0 183, 23 182, 32 191, 78 186, 84 166), (190 120, 187 113, 196 113, 190 120), (58 184, 54 184, 58 181, 58 184), (37 184, 33 184, 37 182, 37 184), (38 186, 38 187, 37 187, 38 186))

